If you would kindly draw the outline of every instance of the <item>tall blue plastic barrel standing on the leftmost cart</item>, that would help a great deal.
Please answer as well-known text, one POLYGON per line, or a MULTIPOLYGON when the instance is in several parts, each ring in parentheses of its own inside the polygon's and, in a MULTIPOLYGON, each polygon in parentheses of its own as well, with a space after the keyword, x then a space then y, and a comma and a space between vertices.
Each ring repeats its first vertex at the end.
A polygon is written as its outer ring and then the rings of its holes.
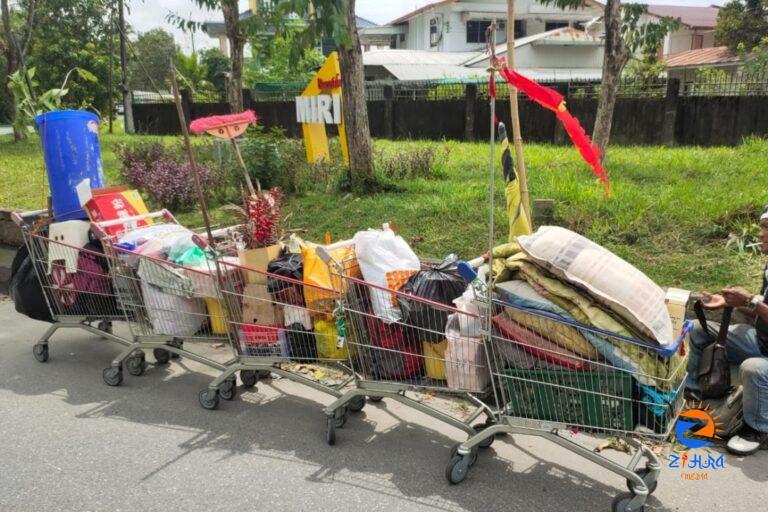
POLYGON ((91 188, 104 186, 99 146, 99 118, 83 110, 46 112, 35 118, 43 145, 56 220, 88 218, 75 187, 86 178, 91 188))

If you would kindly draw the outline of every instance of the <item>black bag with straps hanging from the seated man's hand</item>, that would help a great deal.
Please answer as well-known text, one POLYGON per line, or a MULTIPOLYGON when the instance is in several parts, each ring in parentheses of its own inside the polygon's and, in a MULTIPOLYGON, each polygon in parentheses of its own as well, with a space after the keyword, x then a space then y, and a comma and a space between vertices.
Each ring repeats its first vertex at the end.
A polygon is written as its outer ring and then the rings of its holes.
POLYGON ((725 340, 728 336, 728 326, 731 323, 733 308, 726 307, 723 309, 723 319, 720 322, 720 331, 716 338, 712 336, 707 325, 704 306, 701 301, 696 301, 693 309, 704 332, 709 334, 710 339, 712 339, 712 342, 701 351, 701 359, 699 360, 697 380, 701 397, 704 399, 721 398, 731 389, 731 364, 725 351, 725 340))

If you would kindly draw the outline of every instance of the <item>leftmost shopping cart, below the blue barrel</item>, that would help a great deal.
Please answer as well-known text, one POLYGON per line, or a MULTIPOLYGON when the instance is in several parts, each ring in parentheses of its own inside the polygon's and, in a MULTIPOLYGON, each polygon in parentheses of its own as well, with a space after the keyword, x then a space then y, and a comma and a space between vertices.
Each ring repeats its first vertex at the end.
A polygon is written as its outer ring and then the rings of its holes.
POLYGON ((77 328, 128 345, 112 333, 112 322, 123 320, 108 275, 109 257, 89 239, 86 222, 49 224, 33 221, 47 210, 13 213, 42 289, 53 323, 34 345, 35 359, 48 360, 48 342, 59 329, 77 328))

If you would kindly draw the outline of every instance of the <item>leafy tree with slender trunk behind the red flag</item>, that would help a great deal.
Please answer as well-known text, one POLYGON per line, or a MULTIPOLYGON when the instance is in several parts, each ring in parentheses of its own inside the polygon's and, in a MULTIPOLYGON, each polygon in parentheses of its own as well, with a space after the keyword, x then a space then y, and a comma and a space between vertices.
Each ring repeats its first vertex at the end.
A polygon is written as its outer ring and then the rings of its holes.
MULTIPOLYGON (((582 0, 540 0, 546 5, 561 9, 577 9, 582 0)), ((603 76, 600 98, 597 102, 592 142, 605 155, 611 137, 613 110, 621 84, 621 73, 631 56, 638 51, 658 51, 664 37, 680 26, 679 19, 663 17, 659 21, 641 23, 648 12, 645 4, 628 3, 623 7, 620 0, 606 0, 603 11, 605 25, 605 49, 603 51, 603 76)))

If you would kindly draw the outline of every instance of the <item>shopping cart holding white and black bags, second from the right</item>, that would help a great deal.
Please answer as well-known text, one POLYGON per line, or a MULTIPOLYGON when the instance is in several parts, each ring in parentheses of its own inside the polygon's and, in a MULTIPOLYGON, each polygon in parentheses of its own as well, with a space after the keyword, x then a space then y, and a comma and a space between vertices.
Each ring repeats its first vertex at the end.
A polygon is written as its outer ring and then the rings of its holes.
MULTIPOLYGON (((356 377, 354 388, 324 409, 328 444, 335 444, 350 404, 366 396, 396 400, 470 436, 493 424, 495 403, 488 400, 492 388, 476 315, 368 283, 356 277, 354 257, 334 261, 328 248, 318 254, 334 277, 337 315, 356 377), (464 397, 473 408, 464 415, 424 401, 424 394, 436 393, 464 397), (475 423, 482 416, 485 421, 475 423)), ((487 438, 483 446, 492 442, 487 438)))

